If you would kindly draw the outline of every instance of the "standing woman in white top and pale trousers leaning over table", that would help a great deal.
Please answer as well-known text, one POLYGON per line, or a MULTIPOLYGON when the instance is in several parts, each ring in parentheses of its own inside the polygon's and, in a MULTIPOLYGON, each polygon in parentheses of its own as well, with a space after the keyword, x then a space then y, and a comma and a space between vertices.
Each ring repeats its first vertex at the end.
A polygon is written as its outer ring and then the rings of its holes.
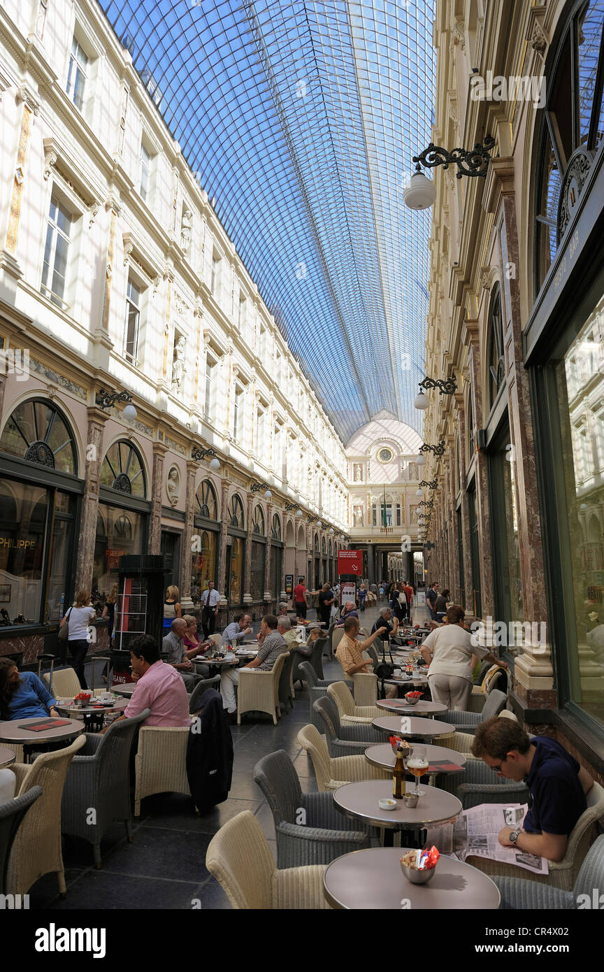
POLYGON ((470 632, 463 627, 464 618, 465 611, 459 605, 448 608, 447 624, 432 631, 420 648, 423 660, 430 666, 428 685, 432 701, 457 712, 467 712, 470 706, 472 655, 507 668, 487 648, 472 643, 470 632))

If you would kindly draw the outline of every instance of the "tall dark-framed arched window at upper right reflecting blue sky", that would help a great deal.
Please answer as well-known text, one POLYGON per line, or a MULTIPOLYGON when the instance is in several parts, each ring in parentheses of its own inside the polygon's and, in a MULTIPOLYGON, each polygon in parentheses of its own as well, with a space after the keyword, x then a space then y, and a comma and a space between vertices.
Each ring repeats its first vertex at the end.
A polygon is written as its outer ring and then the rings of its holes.
POLYGON ((535 289, 572 222, 604 137, 602 6, 577 4, 548 71, 536 186, 535 289))

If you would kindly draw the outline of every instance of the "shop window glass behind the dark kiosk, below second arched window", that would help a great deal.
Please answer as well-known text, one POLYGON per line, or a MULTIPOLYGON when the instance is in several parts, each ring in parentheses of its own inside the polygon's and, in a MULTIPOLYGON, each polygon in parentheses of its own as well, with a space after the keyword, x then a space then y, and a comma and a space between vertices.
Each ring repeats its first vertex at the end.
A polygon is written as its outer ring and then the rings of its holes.
POLYGON ((104 603, 117 583, 119 558, 141 554, 145 544, 147 517, 143 513, 109 503, 99 503, 94 544, 92 599, 104 603))

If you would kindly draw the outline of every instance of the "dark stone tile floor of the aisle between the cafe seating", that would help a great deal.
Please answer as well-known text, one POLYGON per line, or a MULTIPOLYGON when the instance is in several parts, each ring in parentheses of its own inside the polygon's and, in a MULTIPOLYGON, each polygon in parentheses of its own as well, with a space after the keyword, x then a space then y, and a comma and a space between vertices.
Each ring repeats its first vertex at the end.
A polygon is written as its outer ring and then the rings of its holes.
MULTIPOLYGON (((361 615, 368 631, 378 608, 361 615)), ((325 677, 339 677, 337 662, 323 658, 325 677)), ((306 690, 296 690, 294 709, 274 726, 268 718, 246 717, 232 726, 233 781, 228 800, 212 813, 198 816, 189 797, 159 794, 143 801, 142 814, 134 822, 134 842, 128 844, 122 824, 114 824, 102 846, 103 866, 92 865, 92 849, 74 838, 65 838, 67 895, 57 893, 56 877, 46 875, 30 888, 30 909, 228 909, 230 905, 218 882, 206 870, 205 856, 212 836, 228 819, 250 810, 257 816, 276 856, 273 817, 259 787, 252 779, 255 763, 263 755, 285 749, 300 777, 302 789, 316 790, 312 763, 298 745, 299 729, 310 721, 306 690)))

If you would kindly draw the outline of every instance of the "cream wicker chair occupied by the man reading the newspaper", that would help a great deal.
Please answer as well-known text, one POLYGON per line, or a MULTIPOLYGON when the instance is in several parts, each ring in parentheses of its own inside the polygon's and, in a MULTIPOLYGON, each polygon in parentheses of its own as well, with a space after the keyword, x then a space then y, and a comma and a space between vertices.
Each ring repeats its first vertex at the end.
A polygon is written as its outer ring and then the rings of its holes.
MULTIPOLYGON (((564 891, 572 889, 581 865, 586 858, 594 824, 600 817, 604 816, 604 788, 599 783, 594 782, 586 799, 587 810, 579 817, 568 835, 564 857, 560 861, 549 861, 550 873, 535 874, 532 876, 532 881, 550 887, 559 887, 564 891)), ((497 801, 497 803, 499 802, 497 801)), ((467 863, 478 867, 479 871, 483 871, 489 877, 494 875, 502 878, 518 877, 518 868, 512 864, 502 864, 499 861, 487 860, 486 857, 474 856, 468 857, 467 863)))

